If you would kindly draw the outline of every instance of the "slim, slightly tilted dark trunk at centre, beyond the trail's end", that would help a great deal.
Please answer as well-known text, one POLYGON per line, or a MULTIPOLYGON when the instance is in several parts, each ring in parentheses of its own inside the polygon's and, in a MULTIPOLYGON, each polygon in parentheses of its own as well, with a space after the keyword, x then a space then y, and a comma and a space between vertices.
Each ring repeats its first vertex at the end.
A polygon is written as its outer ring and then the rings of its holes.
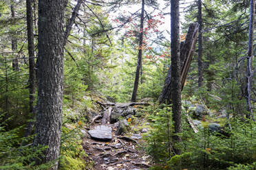
POLYGON ((137 97, 137 90, 138 90, 138 83, 140 77, 140 68, 142 66, 142 45, 143 45, 143 23, 144 23, 144 7, 145 7, 145 0, 141 1, 141 14, 140 14, 140 34, 139 34, 139 50, 138 50, 138 64, 136 69, 136 77, 134 81, 134 91, 131 96, 131 101, 136 101, 137 97))

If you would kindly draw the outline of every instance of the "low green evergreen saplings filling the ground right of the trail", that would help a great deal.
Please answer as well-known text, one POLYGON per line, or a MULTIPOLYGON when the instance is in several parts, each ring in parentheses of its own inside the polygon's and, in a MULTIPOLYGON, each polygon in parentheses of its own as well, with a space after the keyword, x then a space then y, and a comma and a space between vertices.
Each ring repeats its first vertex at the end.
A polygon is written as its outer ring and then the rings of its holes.
MULTIPOLYGON (((150 109, 150 108, 149 108, 150 109)), ((208 127, 200 128, 195 134, 184 121, 182 132, 182 155, 168 154, 168 124, 170 115, 165 108, 156 108, 149 116, 152 121, 147 151, 162 169, 252 169, 256 161, 256 123, 232 119, 230 126, 221 133, 209 132, 208 127), (169 115, 169 116, 167 116, 169 115), (248 165, 247 165, 248 164, 248 165)), ((172 122, 170 121, 171 125, 172 122)), ((158 169, 154 167, 153 169, 158 169)))

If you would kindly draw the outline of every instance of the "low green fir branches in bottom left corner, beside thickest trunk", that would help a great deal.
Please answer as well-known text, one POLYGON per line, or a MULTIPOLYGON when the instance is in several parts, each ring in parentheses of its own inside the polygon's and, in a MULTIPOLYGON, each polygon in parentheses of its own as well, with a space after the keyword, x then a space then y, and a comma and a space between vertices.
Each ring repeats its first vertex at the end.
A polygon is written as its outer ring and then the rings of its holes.
POLYGON ((47 147, 33 147, 31 144, 21 146, 21 143, 31 141, 32 138, 21 138, 21 129, 22 126, 6 130, 6 122, 0 124, 0 169, 50 169, 51 163, 34 165, 34 160, 39 159, 47 147))

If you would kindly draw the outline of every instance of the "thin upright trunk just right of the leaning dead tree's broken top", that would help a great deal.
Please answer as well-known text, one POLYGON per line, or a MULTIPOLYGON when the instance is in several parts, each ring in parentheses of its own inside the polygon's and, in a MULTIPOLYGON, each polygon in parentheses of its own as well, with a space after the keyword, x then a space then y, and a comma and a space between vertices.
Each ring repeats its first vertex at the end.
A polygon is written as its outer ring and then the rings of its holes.
POLYGON ((202 0, 198 0, 198 87, 202 86, 202 0))

